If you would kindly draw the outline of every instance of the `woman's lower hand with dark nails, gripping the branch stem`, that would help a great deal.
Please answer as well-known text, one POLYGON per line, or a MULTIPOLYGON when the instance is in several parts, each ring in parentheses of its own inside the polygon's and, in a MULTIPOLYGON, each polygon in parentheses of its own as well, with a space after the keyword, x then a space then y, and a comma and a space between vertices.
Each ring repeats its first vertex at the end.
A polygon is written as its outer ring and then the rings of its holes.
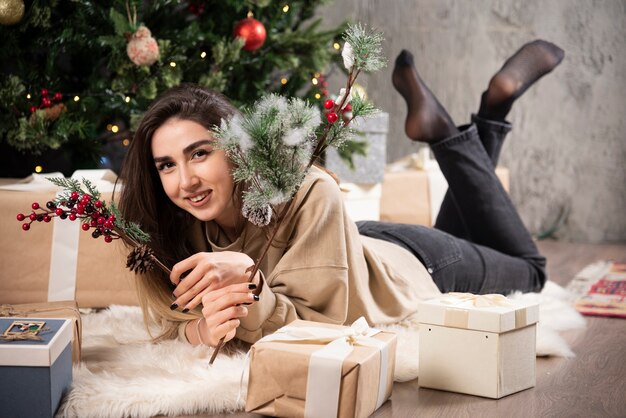
POLYGON ((242 305, 259 299, 250 292, 250 287, 250 283, 239 283, 205 293, 202 297, 204 318, 196 324, 199 342, 215 347, 221 338, 226 342, 235 337, 239 318, 248 315, 248 308, 242 305))

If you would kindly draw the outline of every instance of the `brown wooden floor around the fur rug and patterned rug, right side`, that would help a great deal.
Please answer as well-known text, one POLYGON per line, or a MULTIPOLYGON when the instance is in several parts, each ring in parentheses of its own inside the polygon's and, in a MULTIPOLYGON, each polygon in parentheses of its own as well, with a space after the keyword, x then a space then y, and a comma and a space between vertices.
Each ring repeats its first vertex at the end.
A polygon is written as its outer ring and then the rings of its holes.
MULTIPOLYGON (((539 243, 554 282, 566 285, 596 260, 626 261, 626 245, 539 243)), ((373 417, 626 417, 626 319, 587 317, 565 334, 575 358, 538 358, 537 386, 499 400, 396 383, 373 417)), ((197 415, 196 417, 226 416, 197 415)), ((257 417, 234 414, 229 417, 257 417)))

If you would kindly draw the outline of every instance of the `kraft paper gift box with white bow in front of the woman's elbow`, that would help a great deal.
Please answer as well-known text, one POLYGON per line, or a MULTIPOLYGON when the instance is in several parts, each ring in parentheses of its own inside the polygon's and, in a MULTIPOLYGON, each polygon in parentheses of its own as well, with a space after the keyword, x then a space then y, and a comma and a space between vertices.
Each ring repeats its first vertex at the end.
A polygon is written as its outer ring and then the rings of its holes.
POLYGON ((396 335, 296 320, 251 348, 246 411, 368 417, 391 396, 396 335))

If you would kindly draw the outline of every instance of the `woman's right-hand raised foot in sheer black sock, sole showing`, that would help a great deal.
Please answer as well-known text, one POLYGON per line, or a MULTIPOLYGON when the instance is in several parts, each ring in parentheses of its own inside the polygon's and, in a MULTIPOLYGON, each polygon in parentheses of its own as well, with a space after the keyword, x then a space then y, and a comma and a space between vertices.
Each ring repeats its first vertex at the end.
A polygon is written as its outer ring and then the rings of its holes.
POLYGON ((561 48, 543 40, 521 47, 491 78, 487 91, 482 95, 478 116, 504 121, 513 102, 559 65, 563 56, 561 48))

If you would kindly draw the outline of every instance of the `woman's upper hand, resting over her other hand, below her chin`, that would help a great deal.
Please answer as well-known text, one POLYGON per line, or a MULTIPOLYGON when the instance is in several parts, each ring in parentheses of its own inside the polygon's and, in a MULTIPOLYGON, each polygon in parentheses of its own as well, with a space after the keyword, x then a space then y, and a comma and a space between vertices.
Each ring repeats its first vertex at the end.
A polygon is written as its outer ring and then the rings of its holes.
MULTIPOLYGON (((211 291, 236 283, 248 283, 253 265, 248 255, 232 251, 197 253, 176 263, 170 275, 170 280, 176 285, 172 309, 180 306, 187 312, 198 306, 211 291)), ((252 283, 260 284, 258 273, 252 283)))

